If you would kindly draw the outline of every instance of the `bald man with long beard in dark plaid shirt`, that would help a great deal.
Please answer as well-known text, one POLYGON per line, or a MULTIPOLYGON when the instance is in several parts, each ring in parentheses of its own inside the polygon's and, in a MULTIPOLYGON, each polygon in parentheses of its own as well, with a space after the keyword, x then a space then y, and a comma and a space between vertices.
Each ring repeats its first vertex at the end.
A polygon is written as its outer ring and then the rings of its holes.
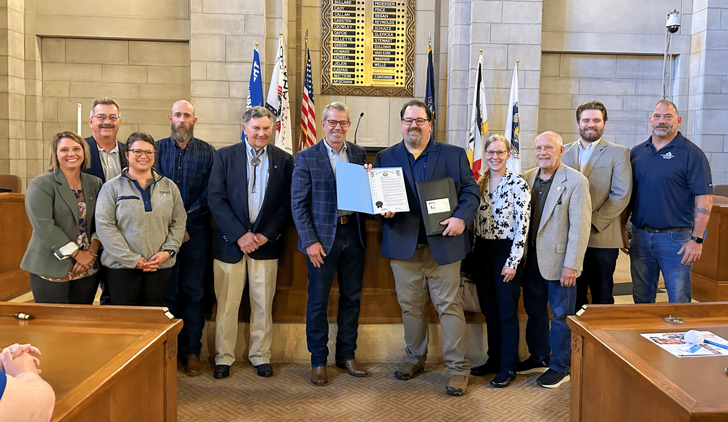
POLYGON ((213 168, 215 148, 194 138, 194 106, 180 100, 173 104, 169 116, 171 134, 157 141, 155 168, 173 180, 182 194, 187 212, 187 226, 179 257, 172 267, 167 284, 167 307, 184 321, 179 334, 178 356, 189 376, 202 372, 199 353, 202 349, 202 295, 210 260, 210 208, 207 206, 207 180, 213 168))

